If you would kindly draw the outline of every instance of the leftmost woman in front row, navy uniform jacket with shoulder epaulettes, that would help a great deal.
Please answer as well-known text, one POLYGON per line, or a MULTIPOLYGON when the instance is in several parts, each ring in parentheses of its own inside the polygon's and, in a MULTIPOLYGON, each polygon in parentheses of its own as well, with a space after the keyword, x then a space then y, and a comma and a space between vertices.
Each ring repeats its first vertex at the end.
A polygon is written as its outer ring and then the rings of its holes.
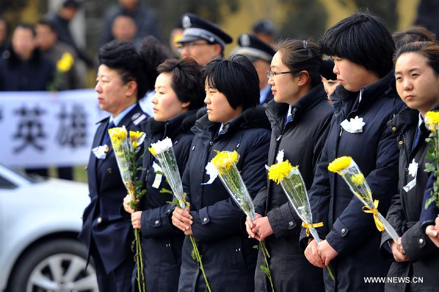
MULTIPOLYGON (((110 42, 99 50, 97 84, 100 108, 111 116, 96 130, 87 167, 90 205, 84 210, 79 238, 94 259, 98 286, 105 292, 131 291, 134 260, 131 224, 120 215, 126 188, 108 135, 108 129, 125 126, 140 130, 146 119, 138 99, 145 95, 142 59, 130 42, 110 42)), ((139 173, 140 175, 140 173, 139 173)))

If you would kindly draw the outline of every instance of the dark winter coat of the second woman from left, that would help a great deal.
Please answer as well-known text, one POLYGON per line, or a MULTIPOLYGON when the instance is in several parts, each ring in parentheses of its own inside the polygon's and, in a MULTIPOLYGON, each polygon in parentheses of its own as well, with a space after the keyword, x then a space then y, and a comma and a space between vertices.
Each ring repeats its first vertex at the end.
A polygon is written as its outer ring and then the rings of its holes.
POLYGON ((147 134, 141 179, 145 183, 146 194, 140 199, 143 264, 146 275, 146 291, 173 292, 179 287, 181 247, 184 234, 175 231, 169 221, 172 208, 166 202, 172 201, 172 195, 160 193, 161 188, 171 189, 165 178, 161 178, 158 188, 154 188, 156 174, 152 167, 158 161, 149 152, 151 143, 166 137, 171 138, 180 170, 180 176, 189 158, 192 138, 191 127, 196 121, 196 111, 182 113, 169 121, 157 122, 149 118, 144 131, 147 134))

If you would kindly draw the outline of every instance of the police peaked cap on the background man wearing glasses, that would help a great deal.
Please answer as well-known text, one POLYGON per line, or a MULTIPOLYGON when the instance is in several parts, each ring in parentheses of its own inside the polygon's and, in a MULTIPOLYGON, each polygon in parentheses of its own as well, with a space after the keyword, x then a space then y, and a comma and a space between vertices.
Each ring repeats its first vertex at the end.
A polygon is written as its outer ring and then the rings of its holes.
POLYGON ((195 14, 183 14, 181 16, 181 24, 184 31, 178 43, 206 40, 210 44, 219 43, 224 49, 226 43, 233 41, 232 37, 222 31, 218 25, 206 21, 195 14))

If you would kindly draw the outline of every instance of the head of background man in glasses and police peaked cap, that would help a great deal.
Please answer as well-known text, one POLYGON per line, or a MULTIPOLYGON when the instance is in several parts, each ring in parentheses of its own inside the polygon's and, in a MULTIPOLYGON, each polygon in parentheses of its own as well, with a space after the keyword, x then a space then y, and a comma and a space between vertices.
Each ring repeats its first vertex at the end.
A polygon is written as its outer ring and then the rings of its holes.
POLYGON ((195 14, 183 14, 181 23, 183 36, 177 42, 181 44, 181 57, 192 56, 202 66, 222 56, 225 45, 233 41, 218 25, 195 14))

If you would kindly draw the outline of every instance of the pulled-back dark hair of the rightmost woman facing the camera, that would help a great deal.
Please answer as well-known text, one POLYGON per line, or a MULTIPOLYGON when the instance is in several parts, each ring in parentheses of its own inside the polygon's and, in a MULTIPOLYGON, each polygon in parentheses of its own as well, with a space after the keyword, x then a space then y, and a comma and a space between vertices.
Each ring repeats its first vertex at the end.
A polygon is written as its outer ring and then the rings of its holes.
POLYGON ((427 64, 439 75, 439 44, 437 42, 409 42, 395 53, 393 61, 404 53, 419 53, 427 59, 427 64))

